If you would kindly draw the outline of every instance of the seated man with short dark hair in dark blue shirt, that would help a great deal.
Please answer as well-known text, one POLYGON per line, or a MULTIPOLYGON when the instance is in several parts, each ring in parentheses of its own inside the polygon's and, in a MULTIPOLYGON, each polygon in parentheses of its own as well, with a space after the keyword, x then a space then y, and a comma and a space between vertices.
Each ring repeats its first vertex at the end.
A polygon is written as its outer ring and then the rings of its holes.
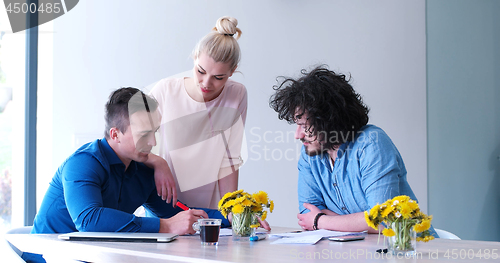
MULTIPOLYGON (((169 232, 192 234, 215 210, 182 211, 156 193, 147 161, 160 125, 157 102, 135 88, 114 91, 106 103, 105 138, 80 147, 57 170, 32 233, 169 232), (160 218, 136 217, 143 205, 160 218)), ((227 221, 226 225, 229 224, 227 221)))

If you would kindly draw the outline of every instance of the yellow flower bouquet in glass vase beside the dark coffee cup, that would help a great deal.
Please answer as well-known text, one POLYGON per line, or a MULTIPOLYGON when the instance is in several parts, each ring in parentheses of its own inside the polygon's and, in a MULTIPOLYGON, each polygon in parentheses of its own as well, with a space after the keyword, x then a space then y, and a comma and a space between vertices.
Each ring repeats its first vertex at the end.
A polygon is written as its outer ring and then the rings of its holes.
POLYGON ((225 218, 232 213, 233 239, 250 237, 255 228, 260 226, 257 216, 262 220, 266 219, 267 211, 264 210, 265 208, 268 208, 272 213, 274 202, 269 200, 264 191, 249 194, 238 190, 225 194, 219 201, 219 211, 225 218))

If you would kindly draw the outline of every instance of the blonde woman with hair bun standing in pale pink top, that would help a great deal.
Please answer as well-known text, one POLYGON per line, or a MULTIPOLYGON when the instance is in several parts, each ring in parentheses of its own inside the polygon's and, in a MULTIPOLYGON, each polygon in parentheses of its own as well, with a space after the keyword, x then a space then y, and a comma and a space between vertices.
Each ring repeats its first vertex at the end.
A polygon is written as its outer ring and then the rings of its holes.
POLYGON ((195 46, 193 76, 160 80, 159 158, 151 156, 158 194, 190 207, 217 208, 237 190, 247 91, 230 77, 240 61, 238 20, 221 17, 195 46), (165 162, 166 160, 166 162, 165 162), (168 166, 167 166, 168 164, 168 166))

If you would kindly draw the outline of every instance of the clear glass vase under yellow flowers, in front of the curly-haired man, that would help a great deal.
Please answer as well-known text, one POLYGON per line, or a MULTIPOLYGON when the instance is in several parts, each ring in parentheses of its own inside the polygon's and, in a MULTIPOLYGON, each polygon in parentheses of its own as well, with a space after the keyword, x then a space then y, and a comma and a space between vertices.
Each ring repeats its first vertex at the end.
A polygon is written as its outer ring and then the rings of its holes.
POLYGON ((417 233, 413 230, 413 225, 409 222, 392 222, 391 228, 395 235, 387 237, 387 249, 393 255, 412 256, 416 253, 417 233))

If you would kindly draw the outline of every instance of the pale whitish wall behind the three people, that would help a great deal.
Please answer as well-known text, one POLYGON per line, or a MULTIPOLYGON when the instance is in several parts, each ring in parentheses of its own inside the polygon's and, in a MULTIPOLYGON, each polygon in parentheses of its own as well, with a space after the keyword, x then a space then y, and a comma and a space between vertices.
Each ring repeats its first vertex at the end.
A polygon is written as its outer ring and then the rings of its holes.
POLYGON ((426 210, 424 1, 80 1, 54 21, 53 146, 45 152, 53 167, 39 182, 47 184, 71 154, 75 135, 102 134, 112 90, 191 69, 192 48, 223 15, 238 18, 243 31, 241 74, 233 75, 249 94, 240 188, 269 193, 272 225, 297 226, 300 144, 295 128, 269 108, 269 96, 276 76, 320 63, 352 74, 370 122, 399 148, 426 210))

